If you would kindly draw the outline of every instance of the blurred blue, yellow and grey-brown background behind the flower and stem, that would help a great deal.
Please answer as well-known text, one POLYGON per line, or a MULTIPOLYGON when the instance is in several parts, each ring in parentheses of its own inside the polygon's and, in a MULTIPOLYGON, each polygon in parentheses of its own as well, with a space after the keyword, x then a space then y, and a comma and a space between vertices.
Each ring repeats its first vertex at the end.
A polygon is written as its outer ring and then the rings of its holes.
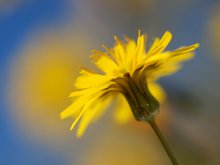
POLYGON ((0 164, 169 165, 148 125, 118 125, 112 110, 81 139, 59 113, 79 66, 113 35, 149 42, 166 30, 168 49, 200 43, 196 57, 160 79, 158 123, 180 164, 220 164, 218 0, 0 0, 0 164))

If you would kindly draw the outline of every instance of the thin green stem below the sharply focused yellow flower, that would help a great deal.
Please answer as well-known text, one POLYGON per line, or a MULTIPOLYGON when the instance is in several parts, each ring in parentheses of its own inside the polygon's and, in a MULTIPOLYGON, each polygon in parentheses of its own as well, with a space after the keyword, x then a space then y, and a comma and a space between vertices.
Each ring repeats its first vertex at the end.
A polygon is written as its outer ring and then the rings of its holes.
POLYGON ((176 160, 176 158, 174 157, 166 139, 164 138, 163 134, 161 133, 159 127, 157 126, 156 122, 154 119, 150 119, 148 120, 148 123, 150 124, 150 126, 152 127, 152 129, 154 130, 154 132, 156 133, 157 137, 159 138, 161 144, 163 145, 165 151, 167 152, 167 155, 169 156, 171 162, 173 163, 173 165, 178 165, 178 162, 176 160))

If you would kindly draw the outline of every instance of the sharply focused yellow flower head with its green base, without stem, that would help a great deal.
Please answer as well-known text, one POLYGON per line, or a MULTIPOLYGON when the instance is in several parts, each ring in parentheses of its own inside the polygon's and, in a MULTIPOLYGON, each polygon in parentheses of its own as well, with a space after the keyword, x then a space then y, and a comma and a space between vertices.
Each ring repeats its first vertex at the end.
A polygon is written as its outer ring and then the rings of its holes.
POLYGON ((91 122, 102 116, 112 100, 118 103, 115 112, 118 121, 128 121, 131 112, 137 120, 154 117, 159 107, 157 100, 163 99, 162 89, 155 80, 176 72, 180 63, 192 58, 193 50, 199 46, 164 51, 171 38, 172 34, 165 32, 146 51, 146 37, 139 31, 137 43, 128 38, 122 42, 115 37, 112 49, 94 50, 91 58, 100 72, 81 69, 76 90, 70 94, 73 103, 61 113, 61 118, 74 118, 71 130, 80 121, 77 130, 80 137, 91 122))

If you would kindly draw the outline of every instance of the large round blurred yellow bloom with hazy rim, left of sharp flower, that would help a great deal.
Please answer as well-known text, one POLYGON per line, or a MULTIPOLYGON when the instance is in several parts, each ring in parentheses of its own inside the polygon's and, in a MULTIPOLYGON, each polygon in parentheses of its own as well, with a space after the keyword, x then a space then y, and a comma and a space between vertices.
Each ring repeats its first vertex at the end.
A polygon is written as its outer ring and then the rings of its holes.
POLYGON ((12 62, 8 102, 24 132, 58 144, 68 128, 59 113, 69 103, 84 48, 54 33, 28 42, 12 62))

